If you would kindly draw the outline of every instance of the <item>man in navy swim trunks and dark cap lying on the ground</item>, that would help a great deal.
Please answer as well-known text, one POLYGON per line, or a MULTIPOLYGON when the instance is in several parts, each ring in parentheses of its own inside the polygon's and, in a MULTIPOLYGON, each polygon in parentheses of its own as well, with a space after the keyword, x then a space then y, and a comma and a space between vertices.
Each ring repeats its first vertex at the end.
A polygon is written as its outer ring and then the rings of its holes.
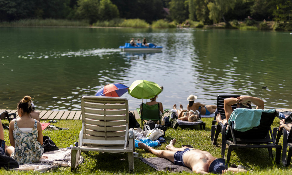
POLYGON ((144 143, 138 143, 139 148, 150 151, 152 154, 166 158, 172 161, 176 165, 189 167, 195 173, 207 174, 207 173, 225 173, 231 172, 247 172, 244 169, 228 168, 225 165, 225 159, 215 158, 209 152, 199 149, 191 149, 186 146, 182 148, 174 147, 176 139, 170 141, 169 145, 165 147, 168 150, 154 149, 144 143))

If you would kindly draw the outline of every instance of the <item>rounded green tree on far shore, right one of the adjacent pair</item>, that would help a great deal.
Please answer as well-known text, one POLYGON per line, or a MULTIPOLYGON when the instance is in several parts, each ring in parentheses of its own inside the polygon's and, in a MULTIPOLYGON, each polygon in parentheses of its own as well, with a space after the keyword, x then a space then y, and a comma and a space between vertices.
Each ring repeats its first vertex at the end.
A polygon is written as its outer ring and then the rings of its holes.
POLYGON ((99 2, 99 18, 101 20, 111 20, 119 17, 119 10, 110 0, 101 0, 99 2))

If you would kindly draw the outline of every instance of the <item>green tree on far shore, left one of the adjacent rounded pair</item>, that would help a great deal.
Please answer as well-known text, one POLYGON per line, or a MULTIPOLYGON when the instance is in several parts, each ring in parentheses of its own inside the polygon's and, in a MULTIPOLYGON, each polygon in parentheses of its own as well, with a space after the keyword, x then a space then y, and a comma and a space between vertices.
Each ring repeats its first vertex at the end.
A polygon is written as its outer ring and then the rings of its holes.
POLYGON ((79 19, 88 19, 89 24, 93 24, 98 20, 98 0, 78 0, 76 16, 79 19))

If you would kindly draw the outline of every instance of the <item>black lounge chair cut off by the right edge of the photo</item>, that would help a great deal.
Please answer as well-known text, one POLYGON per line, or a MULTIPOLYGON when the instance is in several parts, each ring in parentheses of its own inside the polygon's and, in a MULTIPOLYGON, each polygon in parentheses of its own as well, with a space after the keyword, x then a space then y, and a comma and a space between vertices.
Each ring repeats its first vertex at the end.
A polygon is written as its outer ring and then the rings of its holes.
POLYGON ((283 149, 282 149, 282 163, 284 166, 288 167, 290 165, 291 157, 292 157, 292 128, 290 129, 289 134, 287 135, 287 130, 285 128, 282 128, 282 131, 279 131, 279 128, 274 128, 278 131, 277 137, 276 137, 276 144, 279 143, 281 135, 283 135, 283 149), (288 156, 287 156, 287 147, 288 149, 288 156))

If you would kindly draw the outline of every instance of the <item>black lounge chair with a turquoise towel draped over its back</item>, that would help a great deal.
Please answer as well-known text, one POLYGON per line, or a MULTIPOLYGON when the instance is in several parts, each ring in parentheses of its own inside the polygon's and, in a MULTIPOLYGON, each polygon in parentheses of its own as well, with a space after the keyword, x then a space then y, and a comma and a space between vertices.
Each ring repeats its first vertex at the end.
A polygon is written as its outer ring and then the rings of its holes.
POLYGON ((235 123, 232 121, 225 132, 222 123, 218 123, 213 145, 216 144, 218 135, 222 134, 221 156, 225 157, 226 144, 228 144, 227 162, 230 160, 233 148, 268 148, 269 156, 273 160, 272 148, 276 148, 275 162, 280 163, 281 145, 276 144, 275 136, 272 133, 271 125, 276 117, 275 112, 262 112, 259 126, 241 132, 234 129, 235 123), (218 128, 219 127, 219 128, 218 128), (271 135, 271 138, 270 138, 271 135))

